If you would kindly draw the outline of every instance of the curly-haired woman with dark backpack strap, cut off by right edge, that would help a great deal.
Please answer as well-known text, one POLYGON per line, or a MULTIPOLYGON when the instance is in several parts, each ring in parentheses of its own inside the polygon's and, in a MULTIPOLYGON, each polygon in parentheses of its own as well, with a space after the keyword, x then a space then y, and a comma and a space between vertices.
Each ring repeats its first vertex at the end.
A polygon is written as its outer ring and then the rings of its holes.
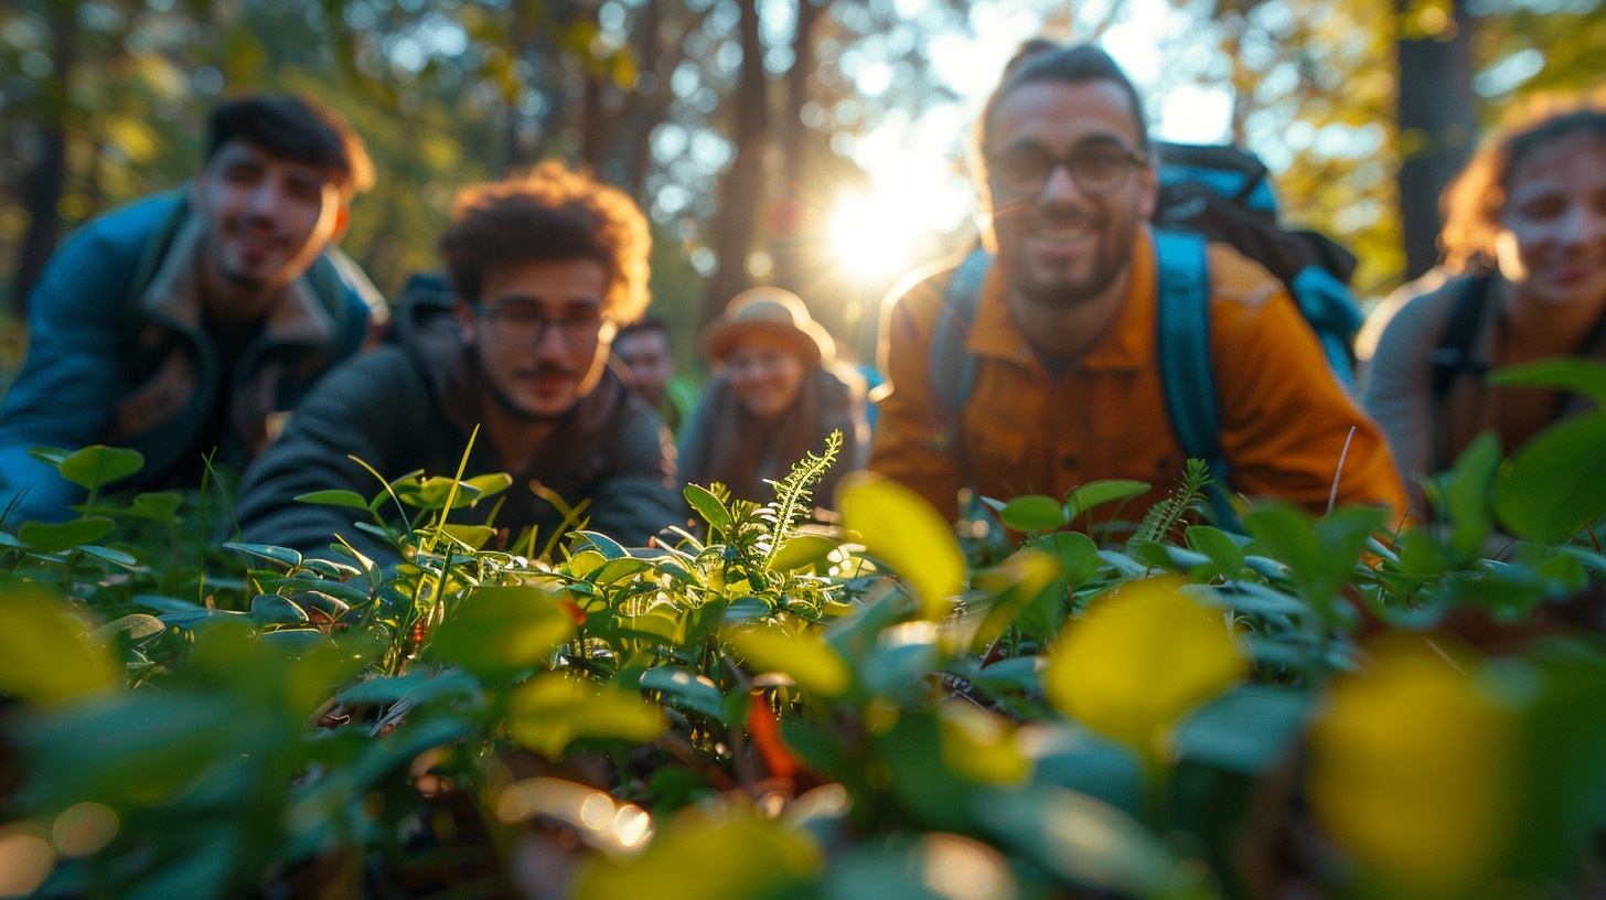
POLYGON ((1593 405, 1492 387, 1492 368, 1551 357, 1606 360, 1606 106, 1518 119, 1445 188, 1444 265, 1400 289, 1365 379, 1394 445, 1412 513, 1421 479, 1494 431, 1514 452, 1593 405))

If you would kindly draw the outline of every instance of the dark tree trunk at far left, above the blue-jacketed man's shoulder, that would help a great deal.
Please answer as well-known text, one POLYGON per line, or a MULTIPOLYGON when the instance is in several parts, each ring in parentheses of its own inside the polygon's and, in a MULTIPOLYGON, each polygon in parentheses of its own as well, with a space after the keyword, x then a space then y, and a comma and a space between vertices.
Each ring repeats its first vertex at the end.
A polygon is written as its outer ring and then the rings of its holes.
POLYGON ((39 117, 39 159, 22 178, 19 191, 22 209, 27 211, 27 233, 11 280, 11 305, 18 317, 27 313, 27 294, 61 238, 61 194, 67 190, 67 114, 72 103, 72 66, 79 56, 79 22, 72 3, 51 3, 48 10, 53 69, 40 90, 43 116, 39 117))

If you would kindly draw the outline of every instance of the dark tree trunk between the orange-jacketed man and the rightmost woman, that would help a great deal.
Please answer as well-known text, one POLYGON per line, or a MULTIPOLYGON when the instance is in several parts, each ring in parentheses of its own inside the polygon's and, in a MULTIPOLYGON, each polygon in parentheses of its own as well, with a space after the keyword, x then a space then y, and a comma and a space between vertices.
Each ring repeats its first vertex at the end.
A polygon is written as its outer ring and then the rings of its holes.
POLYGON ((1437 35, 1399 40, 1399 188, 1407 278, 1420 276, 1439 260, 1439 194, 1466 164, 1478 129, 1471 90, 1474 22, 1465 0, 1452 0, 1452 8, 1450 22, 1437 35))

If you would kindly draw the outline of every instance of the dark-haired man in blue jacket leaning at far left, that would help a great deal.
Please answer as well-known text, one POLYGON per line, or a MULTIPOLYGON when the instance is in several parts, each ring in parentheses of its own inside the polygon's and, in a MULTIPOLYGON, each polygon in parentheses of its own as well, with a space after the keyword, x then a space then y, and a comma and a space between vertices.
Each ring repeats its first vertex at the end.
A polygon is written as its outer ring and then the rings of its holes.
POLYGON ((239 469, 284 413, 363 344, 382 301, 334 249, 373 162, 350 127, 296 96, 212 111, 186 190, 72 235, 29 296, 29 349, 0 407, 0 508, 55 521, 80 492, 32 447, 132 447, 132 487, 239 469))

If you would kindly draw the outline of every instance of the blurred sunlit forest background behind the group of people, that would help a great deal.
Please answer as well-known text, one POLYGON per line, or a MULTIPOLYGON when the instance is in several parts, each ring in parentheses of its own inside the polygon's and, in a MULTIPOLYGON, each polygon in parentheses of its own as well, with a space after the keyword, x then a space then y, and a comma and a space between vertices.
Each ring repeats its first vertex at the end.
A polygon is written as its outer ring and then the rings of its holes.
POLYGON ((1171 140, 1235 140, 1363 294, 1433 264, 1481 124, 1600 79, 1601 0, 13 0, 0 8, 0 299, 66 230, 178 185, 218 96, 296 90, 379 166, 345 249, 393 291, 456 186, 548 156, 650 214, 657 313, 750 283, 848 350, 880 296, 975 238, 964 140, 1013 45, 1099 37, 1171 140))

